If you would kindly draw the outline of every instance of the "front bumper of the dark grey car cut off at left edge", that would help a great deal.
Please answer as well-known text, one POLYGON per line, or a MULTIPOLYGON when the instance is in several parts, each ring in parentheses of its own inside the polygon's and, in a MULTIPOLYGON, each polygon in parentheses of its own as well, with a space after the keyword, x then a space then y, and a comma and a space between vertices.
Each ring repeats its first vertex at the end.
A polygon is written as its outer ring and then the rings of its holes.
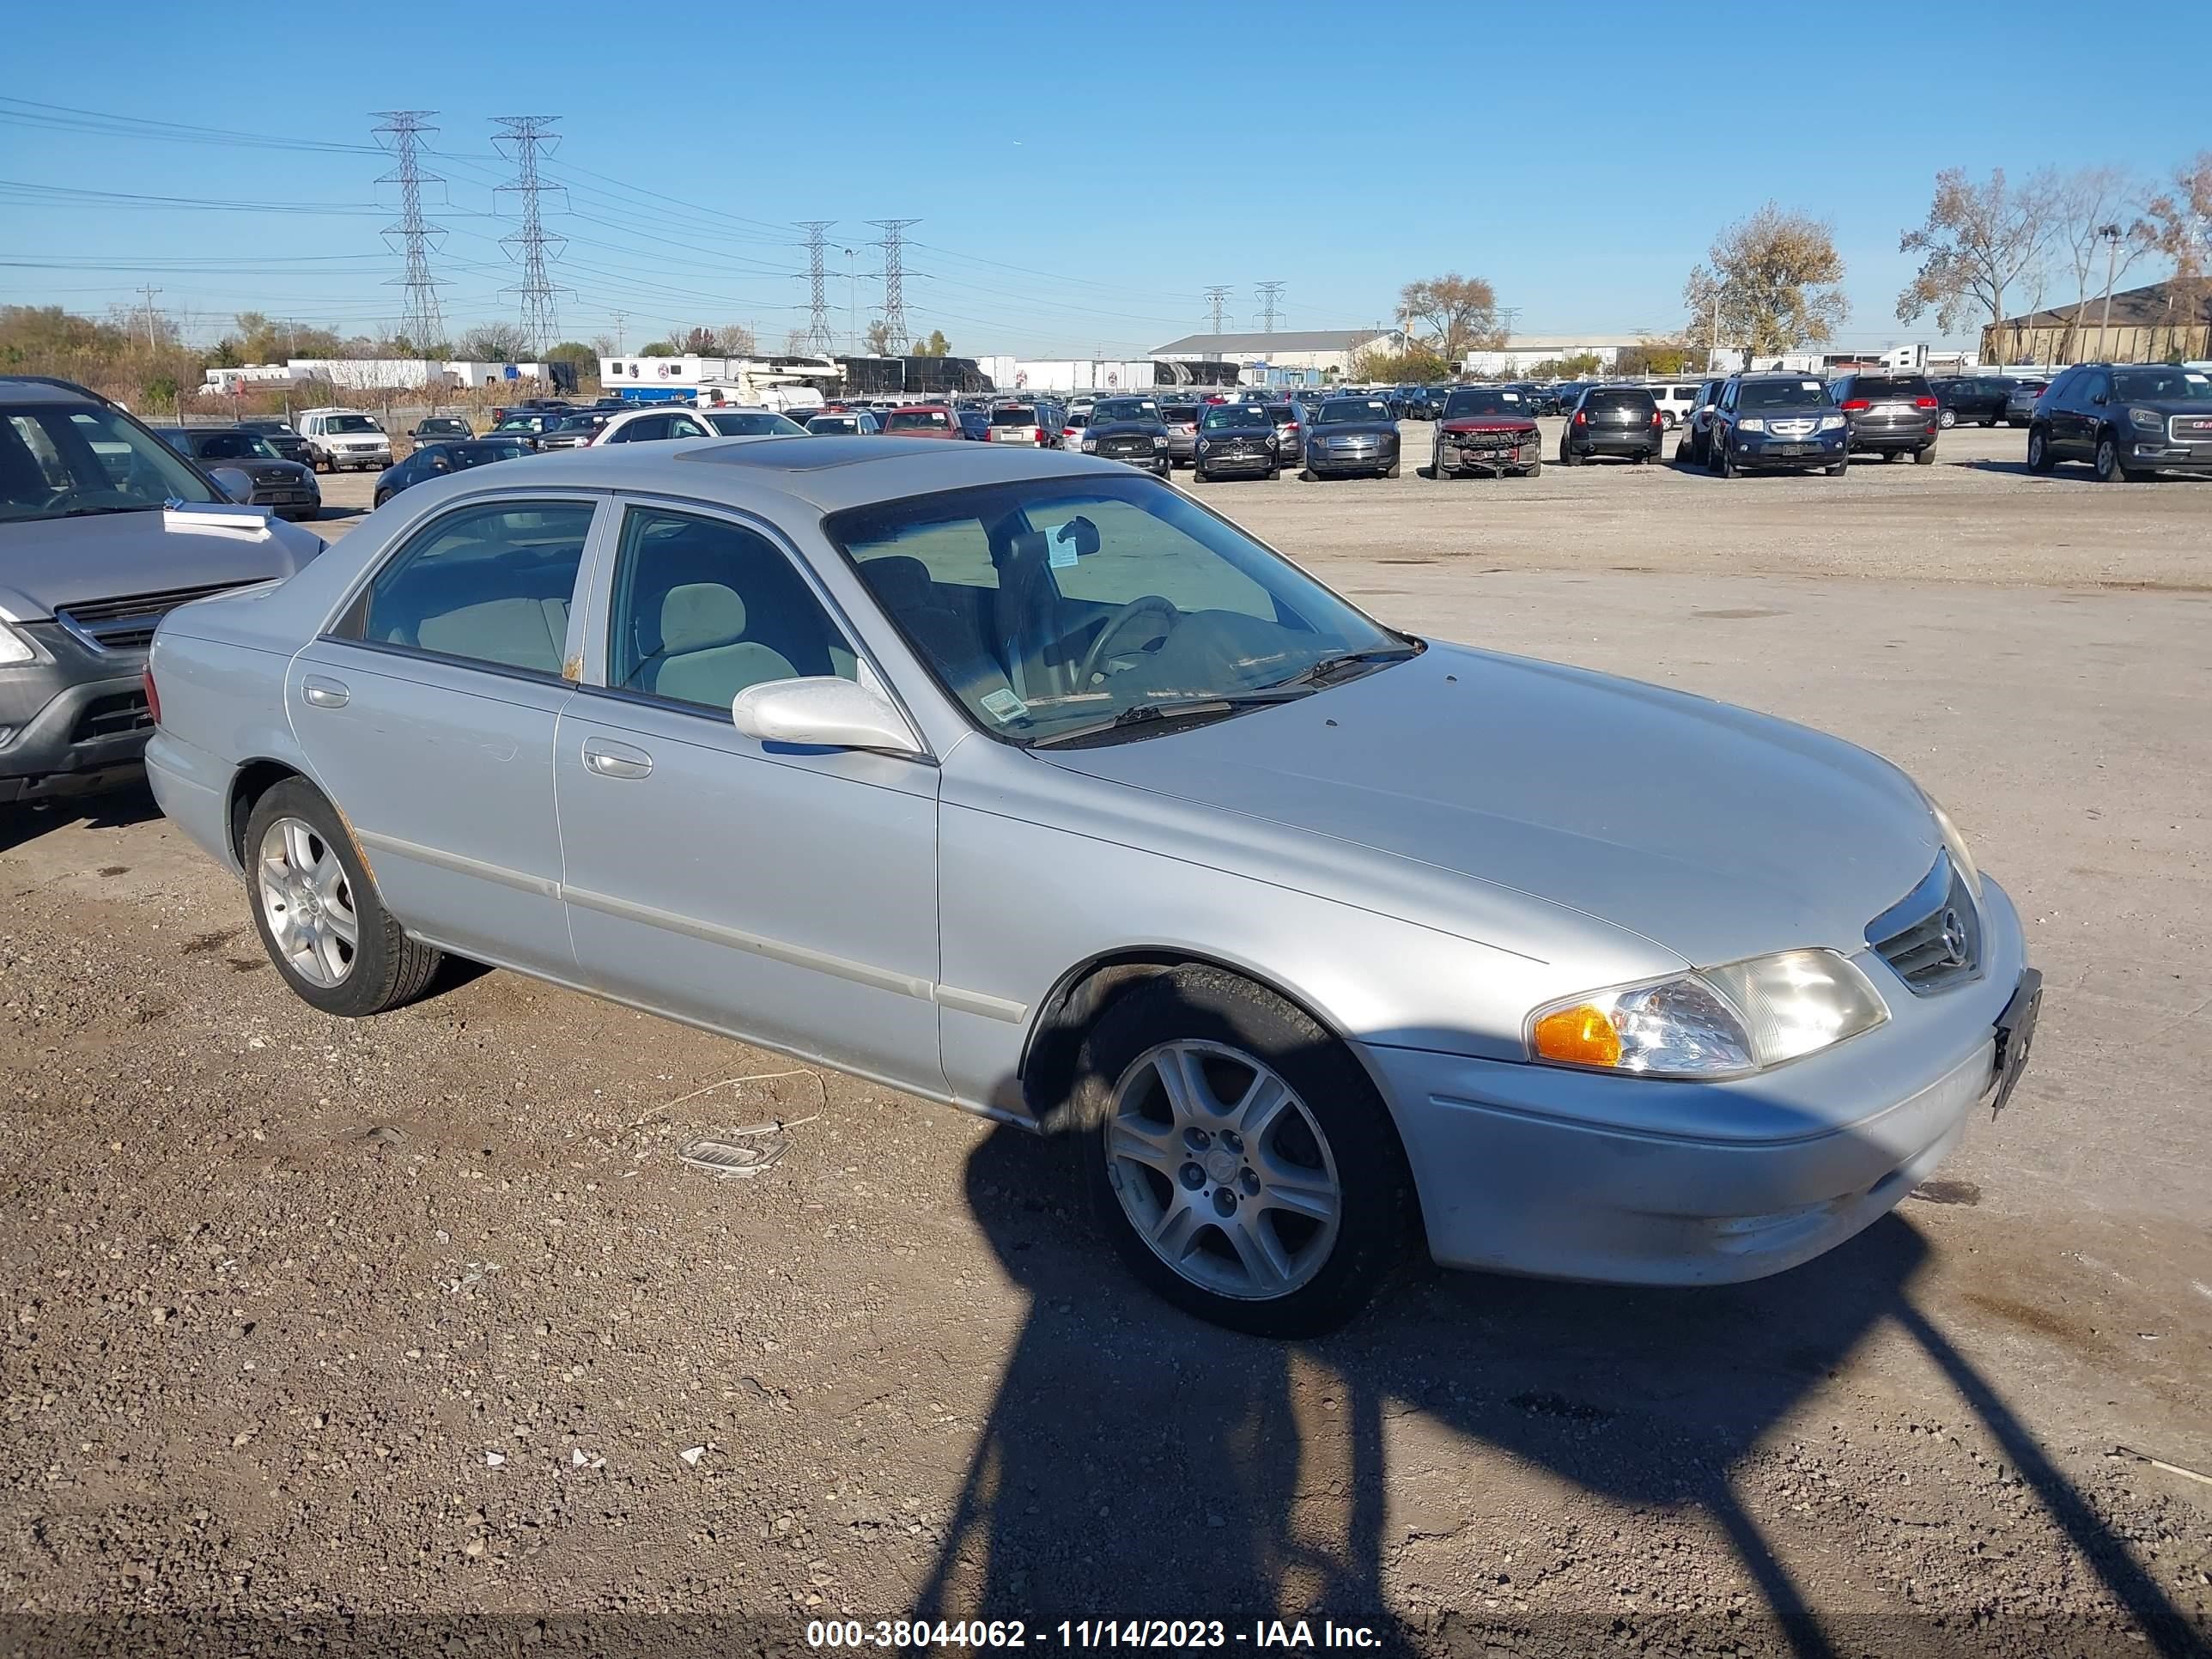
POLYGON ((51 622, 18 624, 38 661, 0 668, 0 801, 126 781, 153 734, 146 653, 93 653, 51 622))

